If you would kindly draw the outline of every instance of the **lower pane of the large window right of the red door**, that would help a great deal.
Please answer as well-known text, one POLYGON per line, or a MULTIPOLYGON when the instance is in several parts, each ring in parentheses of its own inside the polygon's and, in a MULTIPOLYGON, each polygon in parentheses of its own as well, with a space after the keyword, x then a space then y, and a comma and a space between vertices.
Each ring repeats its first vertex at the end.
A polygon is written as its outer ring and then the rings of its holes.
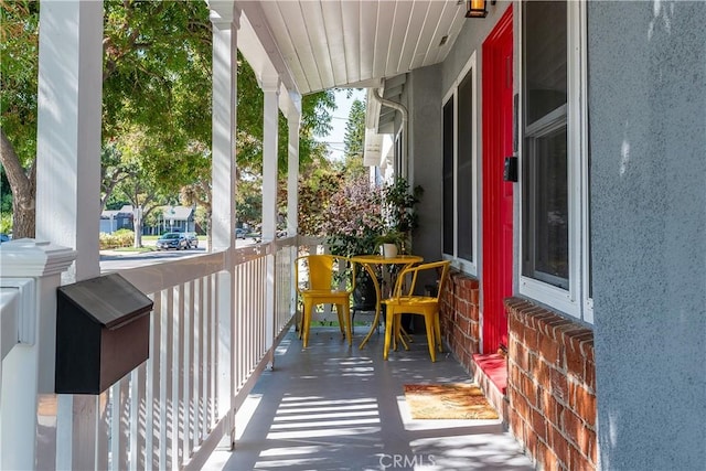
POLYGON ((568 289, 566 126, 525 143, 523 275, 568 289))

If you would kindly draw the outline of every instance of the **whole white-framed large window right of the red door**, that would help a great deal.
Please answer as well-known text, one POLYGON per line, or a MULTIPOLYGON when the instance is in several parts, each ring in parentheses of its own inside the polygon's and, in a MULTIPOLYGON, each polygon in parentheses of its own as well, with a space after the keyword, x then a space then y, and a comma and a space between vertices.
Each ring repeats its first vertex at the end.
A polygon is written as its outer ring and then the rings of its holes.
POLYGON ((523 3, 520 291, 592 322, 584 9, 523 3))

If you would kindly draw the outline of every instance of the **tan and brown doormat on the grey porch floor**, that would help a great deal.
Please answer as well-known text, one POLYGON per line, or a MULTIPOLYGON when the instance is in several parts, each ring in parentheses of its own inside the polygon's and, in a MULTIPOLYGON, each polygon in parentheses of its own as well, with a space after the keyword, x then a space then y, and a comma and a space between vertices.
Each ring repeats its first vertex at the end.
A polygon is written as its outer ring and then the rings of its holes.
POLYGON ((413 419, 496 419, 483 392, 472 384, 406 384, 413 419))

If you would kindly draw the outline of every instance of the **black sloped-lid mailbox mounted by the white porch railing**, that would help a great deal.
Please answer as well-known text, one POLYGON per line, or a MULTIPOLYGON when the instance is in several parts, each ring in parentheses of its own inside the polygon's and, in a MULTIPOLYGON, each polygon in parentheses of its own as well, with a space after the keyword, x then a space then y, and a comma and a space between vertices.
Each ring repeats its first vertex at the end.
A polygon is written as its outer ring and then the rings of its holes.
POLYGON ((100 394, 149 356, 152 300, 118 274, 57 288, 57 394, 100 394))

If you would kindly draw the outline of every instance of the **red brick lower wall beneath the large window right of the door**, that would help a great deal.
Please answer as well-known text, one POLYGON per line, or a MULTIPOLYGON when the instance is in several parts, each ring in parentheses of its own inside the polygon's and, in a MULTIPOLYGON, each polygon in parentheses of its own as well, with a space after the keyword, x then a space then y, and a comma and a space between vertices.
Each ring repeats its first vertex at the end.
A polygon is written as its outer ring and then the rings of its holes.
POLYGON ((596 469, 592 331, 523 299, 505 309, 511 431, 544 469, 596 469))

